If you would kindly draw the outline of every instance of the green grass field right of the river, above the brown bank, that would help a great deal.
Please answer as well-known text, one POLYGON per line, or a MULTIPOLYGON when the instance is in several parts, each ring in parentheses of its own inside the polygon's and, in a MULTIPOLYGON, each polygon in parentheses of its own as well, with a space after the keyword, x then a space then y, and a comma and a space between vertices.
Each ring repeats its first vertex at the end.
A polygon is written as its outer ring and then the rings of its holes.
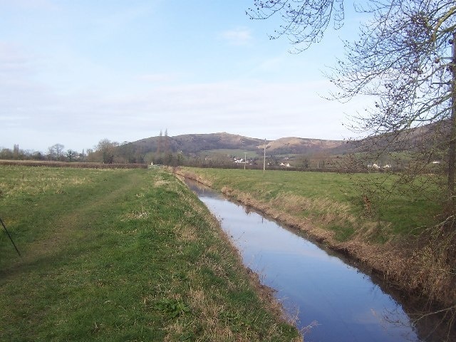
POLYGON ((311 219, 335 232, 340 241, 361 233, 373 242, 418 234, 422 228, 417 227, 433 224, 441 209, 438 187, 425 177, 410 187, 386 173, 187 170, 216 189, 230 187, 297 218, 311 219))

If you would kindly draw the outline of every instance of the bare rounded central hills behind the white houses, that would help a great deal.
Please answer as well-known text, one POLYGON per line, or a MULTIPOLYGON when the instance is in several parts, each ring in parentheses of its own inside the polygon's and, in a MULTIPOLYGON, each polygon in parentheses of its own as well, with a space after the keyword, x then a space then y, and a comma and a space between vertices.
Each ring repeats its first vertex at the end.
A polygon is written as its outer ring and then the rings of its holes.
MULTIPOLYGON (((211 134, 186 134, 175 137, 158 136, 130 142, 135 150, 144 153, 156 152, 157 150, 199 153, 207 150, 247 150, 262 153, 264 139, 248 138, 242 135, 229 133, 211 134)), ((350 146, 343 140, 321 140, 306 138, 280 138, 266 140, 266 153, 271 155, 282 154, 313 154, 316 152, 346 152, 350 146)))

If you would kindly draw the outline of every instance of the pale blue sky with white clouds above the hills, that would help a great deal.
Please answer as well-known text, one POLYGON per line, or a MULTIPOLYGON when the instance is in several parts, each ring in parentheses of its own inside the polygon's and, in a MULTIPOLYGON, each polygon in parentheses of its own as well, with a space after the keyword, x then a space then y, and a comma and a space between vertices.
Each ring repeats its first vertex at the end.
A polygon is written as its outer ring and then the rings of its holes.
MULTIPOLYGON (((323 76, 356 14, 289 53, 253 0, 0 0, 0 148, 81 152, 100 140, 227 132, 357 138, 366 99, 326 100, 323 76)), ((348 9, 351 12, 351 9, 348 9)))

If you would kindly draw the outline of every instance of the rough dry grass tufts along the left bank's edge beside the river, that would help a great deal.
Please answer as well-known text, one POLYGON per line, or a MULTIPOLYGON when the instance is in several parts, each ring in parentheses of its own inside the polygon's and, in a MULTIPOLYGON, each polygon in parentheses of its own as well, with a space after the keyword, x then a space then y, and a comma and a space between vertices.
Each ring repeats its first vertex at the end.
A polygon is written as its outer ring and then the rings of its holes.
MULTIPOLYGON (((275 341, 278 336, 281 336, 282 327, 279 324, 271 321, 268 326, 268 332, 258 335, 256 331, 249 328, 249 326, 256 323, 249 321, 250 318, 247 318, 249 315, 246 315, 247 312, 243 311, 244 309, 226 306, 220 301, 220 298, 227 296, 227 291, 237 294, 241 289, 252 287, 259 295, 261 305, 272 313, 277 318, 277 321, 287 322, 291 325, 294 324, 294 321, 284 316, 283 308, 279 301, 274 298, 273 291, 261 284, 257 274, 248 269, 239 269, 246 277, 238 278, 234 281, 231 274, 232 271, 229 270, 235 269, 238 267, 237 265, 242 264, 242 257, 239 252, 232 245, 227 234, 220 229, 217 219, 210 214, 206 207, 197 204, 193 195, 190 196, 189 193, 182 192, 182 190, 177 190, 177 192, 180 200, 191 207, 190 211, 185 212, 185 217, 192 217, 196 213, 204 217, 204 220, 211 227, 211 229, 202 232, 196 225, 177 224, 174 227, 174 231, 179 243, 184 245, 188 242, 195 243, 212 237, 215 239, 222 238, 223 241, 221 244, 208 246, 204 250, 204 254, 192 265, 192 272, 188 275, 193 285, 187 290, 185 301, 192 308, 192 311, 197 312, 197 315, 202 318, 200 321, 203 321, 204 324, 200 328, 204 331, 204 336, 212 336, 209 338, 210 341, 212 341, 214 336, 217 336, 217 341, 275 341), (204 235, 204 238, 202 235, 204 235), (198 285, 201 281, 201 274, 207 272, 211 274, 211 277, 217 279, 217 282, 222 281, 224 286, 212 286, 211 290, 207 291, 204 286, 198 285), (244 332, 242 333, 242 331, 244 332)), ((177 249, 176 253, 179 254, 180 249, 177 249)), ((257 319, 259 323, 263 318, 257 317, 257 319)), ((179 336, 184 331, 182 329, 185 329, 185 327, 179 323, 172 323, 170 326, 165 327, 167 331, 165 341, 175 341, 175 336, 179 336)), ((207 340, 197 339, 195 341, 207 340)), ((302 341, 302 338, 298 337, 295 341, 302 341)))

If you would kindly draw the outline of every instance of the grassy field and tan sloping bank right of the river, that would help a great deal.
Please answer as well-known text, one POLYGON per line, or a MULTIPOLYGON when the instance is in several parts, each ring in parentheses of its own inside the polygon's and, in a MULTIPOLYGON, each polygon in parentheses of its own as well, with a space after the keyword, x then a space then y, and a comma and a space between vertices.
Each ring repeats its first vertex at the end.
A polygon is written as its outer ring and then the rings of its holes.
MULTIPOLYGON (((454 235, 428 234, 435 185, 408 192, 383 174, 182 168, 226 195, 350 255, 405 291, 456 309, 454 235), (368 187, 375 182, 381 187, 368 187), (384 196, 385 191, 389 191, 384 196)), ((419 180, 418 180, 419 182, 419 180)))

